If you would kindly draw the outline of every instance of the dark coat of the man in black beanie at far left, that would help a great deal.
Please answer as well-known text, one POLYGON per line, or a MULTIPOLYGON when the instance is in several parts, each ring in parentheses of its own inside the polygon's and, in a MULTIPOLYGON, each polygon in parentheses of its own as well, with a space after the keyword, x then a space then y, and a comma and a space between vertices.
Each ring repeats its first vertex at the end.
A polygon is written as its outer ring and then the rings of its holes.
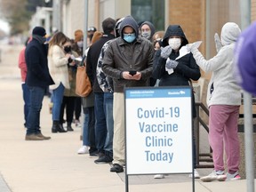
POLYGON ((47 88, 54 84, 49 73, 46 44, 40 44, 33 38, 26 47, 25 60, 28 68, 26 78, 28 86, 47 88))

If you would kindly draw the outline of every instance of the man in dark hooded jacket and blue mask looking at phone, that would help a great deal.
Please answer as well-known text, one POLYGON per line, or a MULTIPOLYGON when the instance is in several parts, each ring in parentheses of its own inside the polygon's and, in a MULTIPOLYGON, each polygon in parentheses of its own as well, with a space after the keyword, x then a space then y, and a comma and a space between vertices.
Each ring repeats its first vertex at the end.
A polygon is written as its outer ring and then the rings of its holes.
POLYGON ((124 87, 148 86, 154 58, 152 44, 139 36, 139 26, 132 16, 122 20, 119 34, 109 42, 102 62, 102 71, 113 79, 114 85, 113 166, 110 172, 124 172, 124 87))

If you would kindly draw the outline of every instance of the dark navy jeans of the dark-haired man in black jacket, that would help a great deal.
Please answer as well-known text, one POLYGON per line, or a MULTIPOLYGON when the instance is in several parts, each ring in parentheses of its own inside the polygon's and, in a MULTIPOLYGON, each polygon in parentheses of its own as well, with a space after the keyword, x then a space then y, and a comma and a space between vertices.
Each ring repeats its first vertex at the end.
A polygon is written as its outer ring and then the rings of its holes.
POLYGON ((104 92, 94 92, 94 110, 95 110, 95 141, 96 147, 100 152, 104 152, 104 145, 107 137, 107 124, 104 113, 104 92))

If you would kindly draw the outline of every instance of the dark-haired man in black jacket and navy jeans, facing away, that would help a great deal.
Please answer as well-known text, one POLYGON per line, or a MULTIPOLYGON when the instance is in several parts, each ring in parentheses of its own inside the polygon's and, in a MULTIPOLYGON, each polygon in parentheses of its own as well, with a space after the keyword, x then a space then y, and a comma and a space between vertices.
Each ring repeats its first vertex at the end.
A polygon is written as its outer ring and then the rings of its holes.
MULTIPOLYGON (((86 72, 89 76, 89 79, 92 83, 93 93, 94 93, 94 109, 95 109, 95 141, 96 141, 96 148, 97 151, 92 151, 90 149, 90 154, 93 156, 95 153, 99 153, 100 156, 104 156, 105 153, 108 153, 104 150, 104 146, 107 138, 107 124, 106 124, 106 116, 105 116, 105 107, 104 107, 104 92, 100 89, 100 85, 97 81, 96 76, 96 68, 98 64, 98 59, 100 56, 100 51, 106 42, 111 39, 114 39, 115 32, 114 28, 116 25, 116 20, 112 18, 107 18, 102 21, 102 28, 103 28, 103 36, 100 39, 92 44, 89 48, 86 57, 86 72)), ((95 36, 96 37, 96 36, 95 36)), ((108 143, 109 144, 109 143, 108 143)))

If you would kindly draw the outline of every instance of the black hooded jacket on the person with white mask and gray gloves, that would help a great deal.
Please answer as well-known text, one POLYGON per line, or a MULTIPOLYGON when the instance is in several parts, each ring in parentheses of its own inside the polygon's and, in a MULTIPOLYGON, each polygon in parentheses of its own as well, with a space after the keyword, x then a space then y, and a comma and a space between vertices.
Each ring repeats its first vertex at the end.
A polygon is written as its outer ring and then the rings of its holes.
MULTIPOLYGON (((183 33, 182 28, 178 25, 171 25, 167 28, 163 39, 164 46, 168 45, 168 39, 170 36, 180 36, 183 39, 180 48, 188 44, 188 39, 183 33)), ((172 51, 169 58, 170 60, 175 60, 179 55, 179 52, 172 51)), ((165 70, 166 59, 161 57, 161 50, 156 52, 153 63, 153 77, 160 80, 159 86, 189 85, 191 80, 197 81, 200 78, 200 68, 196 65, 196 60, 191 52, 176 61, 178 61, 179 64, 174 68, 173 73, 169 75, 165 70)), ((194 95, 192 96, 193 116, 196 117, 194 95)))

